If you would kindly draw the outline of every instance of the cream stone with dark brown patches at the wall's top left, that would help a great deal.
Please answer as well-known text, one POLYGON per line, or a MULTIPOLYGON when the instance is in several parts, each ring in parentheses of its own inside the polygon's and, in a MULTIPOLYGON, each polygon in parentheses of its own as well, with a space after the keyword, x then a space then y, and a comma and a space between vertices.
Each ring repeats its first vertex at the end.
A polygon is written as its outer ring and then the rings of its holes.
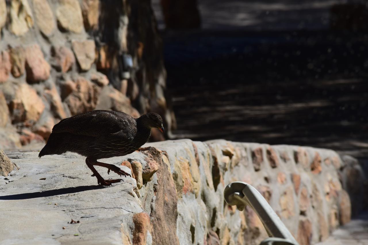
POLYGON ((32 10, 28 0, 11 0, 9 30, 22 36, 33 26, 32 10))

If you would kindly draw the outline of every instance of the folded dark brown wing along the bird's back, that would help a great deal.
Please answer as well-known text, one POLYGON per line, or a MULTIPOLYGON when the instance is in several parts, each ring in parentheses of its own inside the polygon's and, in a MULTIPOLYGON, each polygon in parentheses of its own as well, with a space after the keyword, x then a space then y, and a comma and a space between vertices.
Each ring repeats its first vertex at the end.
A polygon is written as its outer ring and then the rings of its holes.
POLYGON ((131 138, 131 134, 137 132, 135 123, 134 118, 125 113, 95 110, 61 120, 53 127, 52 132, 95 137, 118 133, 131 138))

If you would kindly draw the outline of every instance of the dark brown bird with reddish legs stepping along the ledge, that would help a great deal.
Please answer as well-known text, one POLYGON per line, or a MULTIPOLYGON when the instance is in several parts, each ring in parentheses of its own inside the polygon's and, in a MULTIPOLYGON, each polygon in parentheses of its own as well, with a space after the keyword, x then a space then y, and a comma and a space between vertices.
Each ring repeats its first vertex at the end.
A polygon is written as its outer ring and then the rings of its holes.
POLYGON ((86 164, 98 185, 109 186, 122 179, 105 180, 94 166, 107 168, 124 177, 130 174, 114 164, 97 161, 102 158, 125 156, 138 150, 151 136, 151 128, 164 132, 162 118, 157 113, 146 113, 139 118, 113 110, 93 110, 65 118, 54 125, 39 157, 75 152, 86 157, 86 164))

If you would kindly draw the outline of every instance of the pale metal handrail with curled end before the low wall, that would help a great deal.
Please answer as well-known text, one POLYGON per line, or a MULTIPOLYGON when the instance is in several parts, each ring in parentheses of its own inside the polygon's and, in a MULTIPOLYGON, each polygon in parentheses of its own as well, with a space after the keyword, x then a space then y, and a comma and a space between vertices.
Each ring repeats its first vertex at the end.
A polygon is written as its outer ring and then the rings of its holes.
POLYGON ((227 204, 236 205, 240 211, 243 211, 246 205, 250 206, 262 221, 268 235, 277 238, 268 238, 262 241, 261 245, 299 245, 266 199, 250 184, 237 181, 227 185, 224 198, 227 204))

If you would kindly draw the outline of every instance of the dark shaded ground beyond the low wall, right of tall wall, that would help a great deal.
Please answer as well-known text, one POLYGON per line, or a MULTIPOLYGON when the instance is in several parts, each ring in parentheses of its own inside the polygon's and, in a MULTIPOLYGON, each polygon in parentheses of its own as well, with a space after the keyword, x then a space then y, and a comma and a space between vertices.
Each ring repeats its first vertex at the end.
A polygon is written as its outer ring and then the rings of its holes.
POLYGON ((308 145, 367 157, 361 6, 366 11, 364 2, 199 0, 199 28, 165 28, 160 1, 153 1, 177 120, 171 138, 308 145))

